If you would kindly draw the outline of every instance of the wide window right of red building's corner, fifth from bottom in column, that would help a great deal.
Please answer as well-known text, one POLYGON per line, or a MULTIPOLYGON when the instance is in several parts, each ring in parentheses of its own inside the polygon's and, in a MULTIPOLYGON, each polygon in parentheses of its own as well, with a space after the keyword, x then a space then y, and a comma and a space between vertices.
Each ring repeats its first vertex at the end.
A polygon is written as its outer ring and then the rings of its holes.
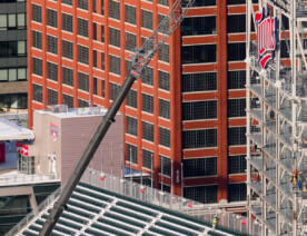
POLYGON ((217 90, 216 72, 186 73, 181 81, 184 92, 217 90))

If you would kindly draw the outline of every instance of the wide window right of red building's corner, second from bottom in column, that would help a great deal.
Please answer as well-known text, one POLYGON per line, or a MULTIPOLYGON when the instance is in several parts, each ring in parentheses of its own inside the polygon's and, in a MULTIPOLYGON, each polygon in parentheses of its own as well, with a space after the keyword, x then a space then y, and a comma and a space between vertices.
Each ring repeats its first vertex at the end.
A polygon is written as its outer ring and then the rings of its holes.
POLYGON ((200 177, 217 175, 217 158, 184 159, 184 177, 200 177))

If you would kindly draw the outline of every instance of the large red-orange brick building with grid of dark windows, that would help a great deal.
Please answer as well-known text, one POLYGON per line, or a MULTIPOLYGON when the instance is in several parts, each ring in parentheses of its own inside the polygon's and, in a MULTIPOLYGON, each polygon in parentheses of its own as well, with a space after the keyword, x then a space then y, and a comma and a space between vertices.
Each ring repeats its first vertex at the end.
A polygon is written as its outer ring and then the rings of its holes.
MULTIPOLYGON (((108 108, 135 48, 174 2, 28 1, 29 127, 33 109, 55 104, 108 108)), ((120 109, 126 163, 156 188, 244 206, 245 12, 245 0, 196 0, 129 91, 120 109)))

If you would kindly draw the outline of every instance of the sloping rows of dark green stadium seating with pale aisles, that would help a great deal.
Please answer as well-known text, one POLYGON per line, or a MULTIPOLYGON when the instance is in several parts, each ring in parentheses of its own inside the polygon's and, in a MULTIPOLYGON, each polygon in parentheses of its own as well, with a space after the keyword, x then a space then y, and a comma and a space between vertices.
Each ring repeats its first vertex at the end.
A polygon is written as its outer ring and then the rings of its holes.
MULTIPOLYGON (((29 224, 20 235, 37 236, 52 206, 29 224)), ((187 215, 139 201, 89 184, 79 183, 51 236, 192 236, 242 235, 225 228, 210 229, 187 215), (204 233, 206 232, 206 233, 204 233)))

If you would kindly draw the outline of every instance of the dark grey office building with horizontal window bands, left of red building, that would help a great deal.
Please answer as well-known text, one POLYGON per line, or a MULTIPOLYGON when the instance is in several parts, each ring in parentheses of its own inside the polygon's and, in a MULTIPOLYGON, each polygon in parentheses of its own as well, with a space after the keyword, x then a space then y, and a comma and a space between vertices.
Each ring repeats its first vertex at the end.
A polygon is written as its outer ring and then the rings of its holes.
POLYGON ((26 0, 0 1, 0 108, 4 109, 28 107, 26 12, 26 0))

